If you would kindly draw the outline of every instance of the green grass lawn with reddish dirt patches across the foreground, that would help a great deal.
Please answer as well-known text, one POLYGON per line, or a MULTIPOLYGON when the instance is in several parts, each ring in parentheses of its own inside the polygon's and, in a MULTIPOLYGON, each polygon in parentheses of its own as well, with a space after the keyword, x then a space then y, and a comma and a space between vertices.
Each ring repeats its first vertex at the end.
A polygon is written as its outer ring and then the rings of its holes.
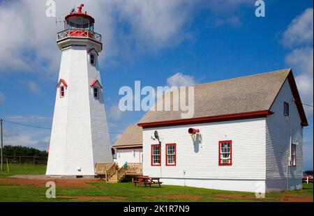
POLYGON ((103 181, 87 183, 87 187, 58 187, 57 199, 47 199, 45 185, 15 183, 8 176, 44 174, 45 166, 11 165, 10 173, 0 171, 0 201, 287 201, 306 199, 313 201, 313 184, 304 184, 304 190, 274 192, 266 199, 256 199, 254 193, 209 190, 196 187, 162 185, 159 187, 134 187, 132 183, 109 184, 103 181))

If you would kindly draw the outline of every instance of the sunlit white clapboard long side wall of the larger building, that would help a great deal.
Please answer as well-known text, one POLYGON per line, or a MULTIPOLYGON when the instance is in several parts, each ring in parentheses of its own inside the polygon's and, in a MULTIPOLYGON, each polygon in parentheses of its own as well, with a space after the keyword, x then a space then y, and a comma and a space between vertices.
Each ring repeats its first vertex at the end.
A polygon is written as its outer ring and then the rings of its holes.
POLYGON ((162 178, 265 179, 265 118, 179 125, 143 130, 144 175, 162 178), (200 129, 202 143, 194 145, 188 128, 200 129), (151 139, 158 130, 161 166, 151 166, 151 139), (232 140, 232 166, 218 166, 218 142, 232 140), (165 166, 165 144, 177 144, 177 165, 165 166), (185 171, 185 174, 184 174, 185 171))

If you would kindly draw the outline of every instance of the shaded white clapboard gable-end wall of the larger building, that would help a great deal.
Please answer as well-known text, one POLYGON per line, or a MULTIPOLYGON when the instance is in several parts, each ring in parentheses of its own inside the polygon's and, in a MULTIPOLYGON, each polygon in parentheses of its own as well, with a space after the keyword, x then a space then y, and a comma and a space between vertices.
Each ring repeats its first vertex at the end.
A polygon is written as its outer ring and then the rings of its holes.
POLYGON ((290 136, 297 145, 297 167, 289 167, 290 178, 302 178, 303 129, 294 103, 289 83, 286 81, 271 107, 274 114, 267 118, 266 177, 267 179, 287 178, 290 157, 290 136), (289 102, 290 116, 283 114, 283 103, 289 102))

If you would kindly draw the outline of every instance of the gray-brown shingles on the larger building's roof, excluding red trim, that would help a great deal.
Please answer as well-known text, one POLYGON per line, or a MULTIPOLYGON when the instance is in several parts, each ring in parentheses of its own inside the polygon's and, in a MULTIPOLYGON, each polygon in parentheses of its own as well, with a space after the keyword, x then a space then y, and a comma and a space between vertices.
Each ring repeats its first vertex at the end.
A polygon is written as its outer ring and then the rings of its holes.
MULTIPOLYGON (((195 85, 193 118, 269 110, 290 71, 291 69, 278 70, 195 85)), ((167 97, 165 95, 163 101, 167 97)), ((161 99, 156 105, 159 102, 161 99)), ((140 123, 179 119, 181 111, 148 111, 140 123)))

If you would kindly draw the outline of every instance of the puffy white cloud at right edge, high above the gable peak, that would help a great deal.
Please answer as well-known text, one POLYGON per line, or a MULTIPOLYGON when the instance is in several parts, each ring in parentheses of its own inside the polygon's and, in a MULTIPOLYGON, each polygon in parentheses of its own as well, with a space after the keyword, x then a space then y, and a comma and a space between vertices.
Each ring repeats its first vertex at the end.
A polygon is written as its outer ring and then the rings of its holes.
POLYGON ((285 47, 313 45, 313 8, 308 8, 292 20, 283 33, 285 47))

